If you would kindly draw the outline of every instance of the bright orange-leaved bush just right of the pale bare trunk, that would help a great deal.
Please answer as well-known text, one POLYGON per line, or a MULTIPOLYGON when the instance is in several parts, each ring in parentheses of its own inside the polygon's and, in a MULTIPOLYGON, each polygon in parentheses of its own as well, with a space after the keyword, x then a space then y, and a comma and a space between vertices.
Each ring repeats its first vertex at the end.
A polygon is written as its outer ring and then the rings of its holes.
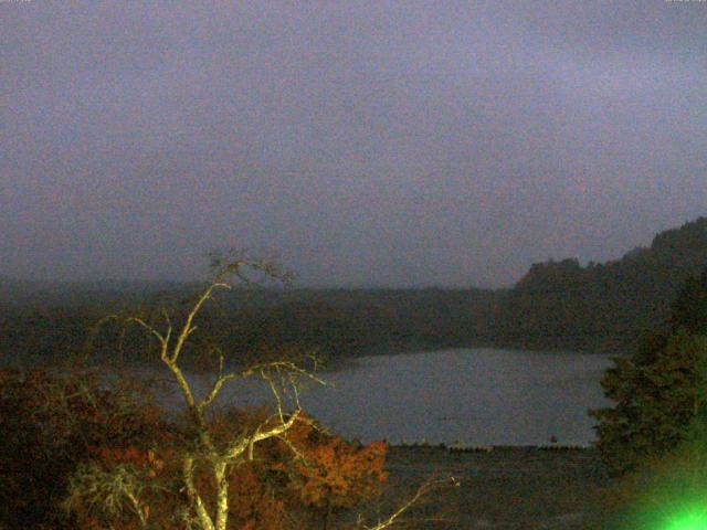
POLYGON ((386 483, 384 443, 348 443, 304 414, 284 438, 258 445, 253 462, 232 470, 230 510, 240 521, 236 528, 255 522, 252 528, 263 530, 291 528, 285 515, 299 527, 316 528, 326 513, 373 498, 386 483))

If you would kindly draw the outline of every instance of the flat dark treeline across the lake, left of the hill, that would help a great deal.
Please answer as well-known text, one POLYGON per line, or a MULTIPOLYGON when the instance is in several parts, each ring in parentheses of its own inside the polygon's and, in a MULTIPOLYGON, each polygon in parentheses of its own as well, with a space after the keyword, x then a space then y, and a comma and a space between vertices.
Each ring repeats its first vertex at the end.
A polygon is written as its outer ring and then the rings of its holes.
MULTIPOLYGON (((108 314, 139 312, 159 322, 165 304, 187 307, 191 289, 148 288, 128 295, 114 292, 74 294, 70 300, 38 300, 0 306, 0 354, 34 357, 76 351, 91 322, 108 314)), ((282 347, 317 350, 334 360, 350 354, 463 347, 487 342, 497 294, 456 289, 288 289, 219 293, 202 314, 200 327, 218 346, 249 352, 282 347)), ((124 343, 139 351, 139 330, 125 333, 118 320, 102 325, 94 347, 124 343), (123 337, 119 337, 124 333, 123 337)), ((146 346, 146 344, 140 344, 146 346)))

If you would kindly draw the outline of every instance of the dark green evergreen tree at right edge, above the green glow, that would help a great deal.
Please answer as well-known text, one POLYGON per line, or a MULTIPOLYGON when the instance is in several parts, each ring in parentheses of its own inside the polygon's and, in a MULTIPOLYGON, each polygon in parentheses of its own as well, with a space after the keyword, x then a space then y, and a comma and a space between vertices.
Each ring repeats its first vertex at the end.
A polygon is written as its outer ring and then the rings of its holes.
POLYGON ((590 415, 613 475, 675 448, 698 416, 707 417, 707 268, 686 282, 664 329, 615 359, 601 384, 615 406, 590 415))

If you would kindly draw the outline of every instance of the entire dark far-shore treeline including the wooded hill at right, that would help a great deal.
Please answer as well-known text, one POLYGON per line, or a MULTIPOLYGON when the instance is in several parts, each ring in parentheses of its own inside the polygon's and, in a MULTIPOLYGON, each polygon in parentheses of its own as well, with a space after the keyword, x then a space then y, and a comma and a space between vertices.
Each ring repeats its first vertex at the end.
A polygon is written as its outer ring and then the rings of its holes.
MULTIPOLYGON (((625 351, 667 318, 680 285, 705 264, 700 218, 618 261, 535 264, 511 289, 243 289, 221 294, 203 326, 235 350, 292 346, 335 358, 475 346, 625 351)), ((158 301, 179 306, 196 288, 0 279, 0 353, 77 349, 87 322, 136 306, 149 312, 158 301)))

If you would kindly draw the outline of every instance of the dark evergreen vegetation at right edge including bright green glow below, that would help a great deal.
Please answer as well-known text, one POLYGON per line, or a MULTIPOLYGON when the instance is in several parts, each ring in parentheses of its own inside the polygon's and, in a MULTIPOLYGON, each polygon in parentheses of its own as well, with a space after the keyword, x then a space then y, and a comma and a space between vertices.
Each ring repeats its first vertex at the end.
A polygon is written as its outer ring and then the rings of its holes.
POLYGON ((595 528, 707 528, 707 267, 602 379, 597 448, 612 480, 595 528))

